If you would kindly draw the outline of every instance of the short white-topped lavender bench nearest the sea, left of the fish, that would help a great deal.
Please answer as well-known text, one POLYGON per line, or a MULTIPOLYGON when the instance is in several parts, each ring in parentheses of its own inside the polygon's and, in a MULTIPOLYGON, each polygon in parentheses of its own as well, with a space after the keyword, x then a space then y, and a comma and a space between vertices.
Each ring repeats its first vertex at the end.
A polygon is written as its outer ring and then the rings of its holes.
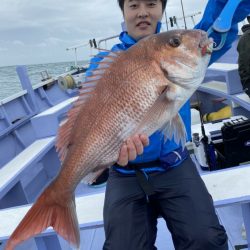
POLYGON ((65 115, 77 98, 78 97, 71 97, 32 117, 31 123, 34 127, 36 136, 38 138, 43 138, 56 135, 60 119, 65 115))

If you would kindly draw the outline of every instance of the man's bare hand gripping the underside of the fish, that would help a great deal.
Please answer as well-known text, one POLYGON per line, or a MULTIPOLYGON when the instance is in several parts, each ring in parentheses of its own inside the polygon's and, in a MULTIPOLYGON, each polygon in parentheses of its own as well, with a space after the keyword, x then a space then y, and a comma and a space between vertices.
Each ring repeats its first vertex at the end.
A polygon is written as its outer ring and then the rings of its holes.
POLYGON ((122 145, 117 164, 126 166, 129 161, 135 160, 137 155, 141 155, 148 144, 149 139, 145 134, 129 137, 122 145))

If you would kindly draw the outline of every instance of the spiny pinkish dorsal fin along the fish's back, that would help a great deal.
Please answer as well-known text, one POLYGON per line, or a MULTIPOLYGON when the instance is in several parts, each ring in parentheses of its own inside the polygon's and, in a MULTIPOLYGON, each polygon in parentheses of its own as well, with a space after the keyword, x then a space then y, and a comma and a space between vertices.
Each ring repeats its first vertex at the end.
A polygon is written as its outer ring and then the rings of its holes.
POLYGON ((69 147, 74 143, 72 140, 72 131, 76 119, 80 111, 84 108, 86 101, 92 96, 98 82, 103 77, 106 69, 119 56, 116 52, 111 52, 109 55, 102 56, 102 61, 94 62, 98 64, 98 68, 91 71, 91 75, 86 77, 86 80, 79 86, 79 96, 73 107, 67 113, 67 119, 60 126, 57 135, 56 150, 59 154, 61 162, 67 156, 69 147))

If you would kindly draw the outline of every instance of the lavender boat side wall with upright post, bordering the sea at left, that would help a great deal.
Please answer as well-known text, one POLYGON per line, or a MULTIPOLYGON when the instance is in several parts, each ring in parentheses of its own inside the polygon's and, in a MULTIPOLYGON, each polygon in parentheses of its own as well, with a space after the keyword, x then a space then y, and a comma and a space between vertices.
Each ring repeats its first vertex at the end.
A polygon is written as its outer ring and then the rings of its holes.
MULTIPOLYGON (((66 72, 58 77, 63 77, 76 71, 77 70, 66 72)), ((24 70, 24 73, 27 73, 26 70, 24 70)), ((26 126, 32 118, 35 119, 36 115, 45 110, 55 110, 55 107, 60 107, 60 110, 57 108, 54 114, 54 118, 58 119, 58 116, 60 116, 60 114, 71 105, 71 100, 73 100, 70 93, 62 90, 60 86, 54 86, 57 85, 58 77, 41 81, 32 86, 31 82, 28 81, 28 79, 25 79, 23 73, 19 76, 23 90, 0 101, 0 139, 17 131, 23 125, 26 126), (26 80, 26 84, 23 84, 24 80, 26 80), (57 89, 60 89, 60 91, 57 89), (55 95, 55 92, 57 93, 57 96, 56 98, 52 98, 52 96, 55 95), (31 99, 31 96, 34 96, 34 101, 31 99), (11 107, 14 107, 14 112, 10 112, 11 107)), ((22 143, 23 140, 19 139, 18 141, 23 147, 25 147, 25 143, 22 143)))

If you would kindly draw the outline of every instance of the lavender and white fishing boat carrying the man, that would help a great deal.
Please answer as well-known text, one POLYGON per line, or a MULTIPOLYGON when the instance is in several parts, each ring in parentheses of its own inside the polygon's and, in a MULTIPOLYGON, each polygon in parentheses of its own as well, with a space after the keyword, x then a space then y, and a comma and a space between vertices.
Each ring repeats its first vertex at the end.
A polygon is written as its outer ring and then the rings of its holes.
MULTIPOLYGON (((206 109, 201 111, 203 114, 212 112, 214 100, 223 98, 217 103, 230 105, 233 119, 240 116, 246 120, 250 117, 250 99, 242 92, 238 75, 236 46, 237 41, 217 63, 209 67, 204 83, 197 90, 199 103, 206 100, 206 105, 203 105, 206 109)), ((45 77, 36 85, 31 84, 25 66, 18 66, 16 70, 22 91, 0 101, 0 250, 4 249, 31 204, 60 170, 55 149, 56 134, 66 112, 77 99, 86 67, 54 78, 45 77)), ((197 94, 192 100, 197 102, 197 94)), ((200 123, 200 113, 193 110, 193 132, 201 133, 200 123)), ((224 122, 218 124, 222 127, 224 122)), ((211 126, 211 123, 205 124, 205 130, 211 126)), ((214 198, 219 219, 227 230, 229 249, 247 249, 250 244, 250 178, 247 176, 250 164, 207 171, 200 166, 194 144, 190 143, 188 147, 214 198)), ((102 249, 104 192, 105 185, 80 183, 76 189, 81 249, 102 249)), ((161 218, 158 220, 156 246, 159 250, 174 249, 171 235, 161 218)), ((71 248, 52 228, 48 228, 17 249, 71 248)))

